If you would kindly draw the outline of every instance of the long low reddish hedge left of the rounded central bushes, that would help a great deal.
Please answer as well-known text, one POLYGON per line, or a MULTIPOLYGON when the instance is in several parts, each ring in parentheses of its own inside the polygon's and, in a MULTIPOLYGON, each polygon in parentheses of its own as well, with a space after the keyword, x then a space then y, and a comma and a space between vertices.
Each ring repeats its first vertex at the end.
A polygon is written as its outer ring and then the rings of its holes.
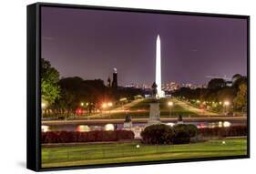
POLYGON ((100 142, 133 139, 134 133, 128 130, 114 131, 52 131, 42 132, 42 143, 100 142))

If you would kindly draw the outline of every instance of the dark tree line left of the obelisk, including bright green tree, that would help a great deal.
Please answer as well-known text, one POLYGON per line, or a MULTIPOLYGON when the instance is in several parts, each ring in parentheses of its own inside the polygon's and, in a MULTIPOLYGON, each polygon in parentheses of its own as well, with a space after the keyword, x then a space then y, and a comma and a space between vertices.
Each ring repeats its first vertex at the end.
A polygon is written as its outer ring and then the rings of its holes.
POLYGON ((41 63, 42 102, 46 103, 45 115, 74 116, 77 108, 85 109, 90 114, 101 109, 103 102, 111 101, 118 105, 121 97, 132 100, 136 95, 143 94, 141 89, 133 87, 107 87, 101 79, 84 80, 81 77, 59 79, 59 73, 56 68, 51 67, 49 61, 42 59, 41 63))

